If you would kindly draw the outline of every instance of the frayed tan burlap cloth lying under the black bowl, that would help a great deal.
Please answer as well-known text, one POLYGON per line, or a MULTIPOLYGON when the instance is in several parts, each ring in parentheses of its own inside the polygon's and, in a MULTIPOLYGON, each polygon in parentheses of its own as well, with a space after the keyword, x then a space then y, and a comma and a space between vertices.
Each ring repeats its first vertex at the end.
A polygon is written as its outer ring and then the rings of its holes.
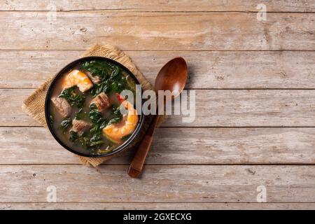
MULTIPOLYGON (((94 45, 94 47, 90 48, 90 50, 87 50, 83 54, 83 57, 86 56, 109 57, 113 60, 116 60, 117 62, 120 62, 120 64, 123 64, 127 67, 127 69, 134 73, 134 76, 136 76, 141 83, 143 90, 153 90, 151 83, 149 83, 148 80, 144 78, 144 75, 137 69, 137 66, 132 62, 130 57, 125 55, 125 52, 118 50, 111 45, 94 45)), ((52 78, 53 76, 51 78, 48 78, 48 80, 46 80, 43 85, 38 87, 38 89, 36 89, 33 94, 25 99, 24 104, 22 105, 23 111, 28 113, 29 116, 34 118, 34 120, 36 120, 39 124, 43 126, 47 126, 45 120, 45 97, 52 78)), ((134 148, 134 146, 137 146, 139 140, 141 140, 146 133, 148 125, 151 123, 151 120, 151 116, 146 116, 144 120, 144 126, 141 129, 139 136, 134 139, 134 141, 132 141, 132 144, 130 144, 130 146, 128 146, 125 151, 130 148, 134 148)), ((102 162, 105 162, 106 160, 109 160, 116 155, 111 155, 106 158, 87 158, 80 155, 76 156, 78 156, 80 162, 82 162, 83 165, 92 165, 93 167, 97 167, 97 165, 100 165, 102 162)))

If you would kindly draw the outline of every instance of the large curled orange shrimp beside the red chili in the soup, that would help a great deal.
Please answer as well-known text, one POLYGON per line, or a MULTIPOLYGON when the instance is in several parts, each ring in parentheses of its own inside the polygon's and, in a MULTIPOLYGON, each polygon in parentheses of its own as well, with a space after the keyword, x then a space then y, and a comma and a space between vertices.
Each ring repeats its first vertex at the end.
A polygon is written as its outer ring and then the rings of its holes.
POLYGON ((134 132, 139 120, 137 110, 134 109, 134 106, 130 102, 123 100, 121 104, 125 106, 127 114, 123 115, 120 123, 107 125, 103 129, 104 136, 116 144, 120 144, 123 137, 134 132))

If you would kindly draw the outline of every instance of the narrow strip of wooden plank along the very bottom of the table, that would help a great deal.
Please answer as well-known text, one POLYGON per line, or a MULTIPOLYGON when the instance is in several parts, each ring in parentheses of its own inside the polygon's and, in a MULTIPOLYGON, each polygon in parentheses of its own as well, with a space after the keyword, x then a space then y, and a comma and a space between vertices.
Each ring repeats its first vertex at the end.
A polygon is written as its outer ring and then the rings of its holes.
POLYGON ((312 210, 315 203, 0 203, 0 210, 20 210, 20 209, 55 209, 55 210, 142 210, 142 209, 162 209, 162 210, 200 210, 200 209, 280 209, 280 210, 312 210))

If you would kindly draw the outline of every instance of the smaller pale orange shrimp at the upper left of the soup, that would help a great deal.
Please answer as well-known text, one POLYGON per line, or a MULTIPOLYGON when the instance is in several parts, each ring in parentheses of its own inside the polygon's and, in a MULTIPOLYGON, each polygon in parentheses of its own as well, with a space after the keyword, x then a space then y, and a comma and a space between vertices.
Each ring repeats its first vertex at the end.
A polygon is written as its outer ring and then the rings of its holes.
POLYGON ((75 85, 78 86, 81 92, 85 92, 90 90, 90 88, 93 86, 93 83, 90 78, 82 71, 73 70, 66 76, 66 78, 64 78, 62 87, 67 89, 75 85))

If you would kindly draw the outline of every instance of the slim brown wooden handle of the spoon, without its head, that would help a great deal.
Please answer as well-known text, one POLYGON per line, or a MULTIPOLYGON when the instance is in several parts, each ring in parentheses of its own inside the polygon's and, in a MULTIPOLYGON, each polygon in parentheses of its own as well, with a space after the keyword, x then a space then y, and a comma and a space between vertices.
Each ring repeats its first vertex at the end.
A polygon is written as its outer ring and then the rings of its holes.
POLYGON ((148 131, 146 132, 146 135, 144 136, 144 139, 141 141, 141 144, 139 145, 137 149, 136 155, 134 155, 134 158, 130 164, 130 167, 128 169, 128 175, 137 178, 142 172, 142 168, 144 167, 144 162, 146 161, 146 156, 148 155, 148 151, 151 148, 152 140, 153 140, 153 134, 155 127, 158 125, 159 115, 155 115, 153 118, 153 121, 148 128, 148 131))

